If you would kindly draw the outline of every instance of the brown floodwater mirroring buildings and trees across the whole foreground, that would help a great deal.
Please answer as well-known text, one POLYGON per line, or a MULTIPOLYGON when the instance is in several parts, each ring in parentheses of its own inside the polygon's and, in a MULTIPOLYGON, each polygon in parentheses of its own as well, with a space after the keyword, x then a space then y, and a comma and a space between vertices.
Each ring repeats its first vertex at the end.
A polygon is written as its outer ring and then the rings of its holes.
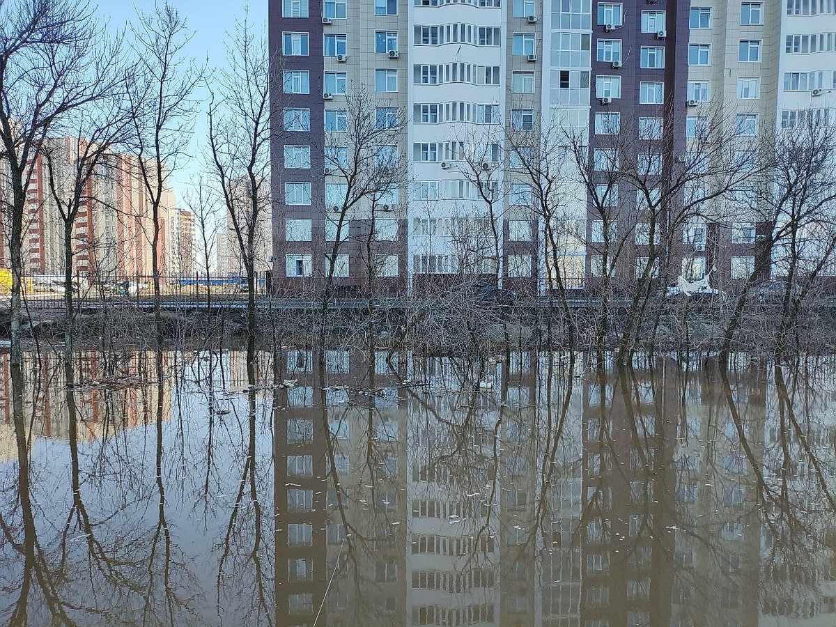
POLYGON ((836 625, 830 357, 0 368, 0 624, 836 625))

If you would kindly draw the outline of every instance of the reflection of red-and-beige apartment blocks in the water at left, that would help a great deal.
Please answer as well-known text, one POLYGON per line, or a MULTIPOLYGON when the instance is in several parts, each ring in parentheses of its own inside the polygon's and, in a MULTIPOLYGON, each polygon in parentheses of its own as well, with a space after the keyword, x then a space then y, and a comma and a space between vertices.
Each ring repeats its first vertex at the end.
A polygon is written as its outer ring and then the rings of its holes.
MULTIPOLYGON (((164 358, 165 359, 165 358, 164 358)), ((79 441, 113 435, 135 427, 154 424, 159 389, 153 380, 155 354, 136 353, 115 370, 108 370, 101 355, 76 354, 74 378, 79 441), (89 385, 95 382, 94 385, 89 385)), ((0 428, 14 436, 11 371, 8 354, 0 355, 0 372, 8 382, 0 399, 0 428)), ((64 365, 54 354, 30 355, 24 360, 23 419, 32 427, 33 439, 67 440, 70 433, 64 365)), ((163 420, 171 418, 174 381, 163 382, 163 420)), ((16 451, 13 440, 9 451, 16 451)), ((0 448, 5 448, 0 444, 0 448)), ((13 453, 13 456, 16 453, 13 453)))

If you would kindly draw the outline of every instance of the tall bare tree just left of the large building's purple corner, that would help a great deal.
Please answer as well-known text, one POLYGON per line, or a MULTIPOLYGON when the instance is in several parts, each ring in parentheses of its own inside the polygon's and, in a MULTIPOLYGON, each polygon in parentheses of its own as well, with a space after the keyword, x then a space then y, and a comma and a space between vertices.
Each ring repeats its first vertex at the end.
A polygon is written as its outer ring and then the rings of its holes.
POLYGON ((227 41, 229 69, 209 105, 209 145, 227 217, 247 273, 247 335, 255 336, 257 242, 270 211, 270 107, 267 43, 248 13, 227 41))

